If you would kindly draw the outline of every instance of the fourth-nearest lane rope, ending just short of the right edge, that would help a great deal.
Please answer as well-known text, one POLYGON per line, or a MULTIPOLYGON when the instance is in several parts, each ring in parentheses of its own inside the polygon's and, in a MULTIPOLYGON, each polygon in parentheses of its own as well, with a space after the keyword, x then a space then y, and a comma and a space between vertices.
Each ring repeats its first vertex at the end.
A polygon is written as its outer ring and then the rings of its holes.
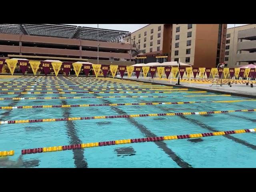
POLYGON ((91 98, 144 98, 144 97, 148 97, 148 98, 163 98, 163 97, 208 97, 208 96, 231 96, 231 95, 181 95, 181 96, 95 96, 95 97, 2 97, 0 98, 0 100, 26 100, 26 99, 30 99, 30 100, 36 100, 36 99, 91 99, 91 98))

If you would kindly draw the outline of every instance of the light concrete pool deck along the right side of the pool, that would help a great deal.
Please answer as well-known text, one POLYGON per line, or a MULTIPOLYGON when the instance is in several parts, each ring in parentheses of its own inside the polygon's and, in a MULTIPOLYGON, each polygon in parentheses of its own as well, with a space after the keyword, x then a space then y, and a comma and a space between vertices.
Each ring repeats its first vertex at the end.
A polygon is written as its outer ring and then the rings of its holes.
MULTIPOLYGON (((117 77, 119 78, 119 77, 117 77)), ((148 77, 139 77, 137 80, 136 77, 125 77, 124 80, 133 80, 138 82, 151 82, 148 77)), ((194 90, 202 90, 202 91, 208 91, 208 92, 215 92, 215 93, 221 93, 221 94, 231 94, 234 96, 241 96, 241 97, 248 97, 248 98, 256 98, 256 84, 253 84, 253 87, 246 86, 245 84, 232 84, 232 87, 228 85, 223 86, 216 86, 213 85, 210 87, 211 84, 198 84, 198 83, 186 83, 186 82, 180 82, 182 85, 175 85, 177 83, 176 80, 172 80, 172 84, 170 84, 170 81, 164 81, 164 80, 154 80, 154 82, 151 82, 152 84, 160 84, 160 85, 166 85, 166 86, 175 86, 179 88, 188 88, 188 89, 194 89, 194 90)))

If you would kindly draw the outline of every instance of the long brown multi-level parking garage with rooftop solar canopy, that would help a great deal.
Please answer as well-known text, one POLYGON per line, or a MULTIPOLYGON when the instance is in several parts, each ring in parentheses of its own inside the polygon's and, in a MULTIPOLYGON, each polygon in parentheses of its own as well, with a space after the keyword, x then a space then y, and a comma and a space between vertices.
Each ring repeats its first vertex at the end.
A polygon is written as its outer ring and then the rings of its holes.
POLYGON ((0 57, 91 63, 99 58, 100 64, 131 65, 136 48, 124 43, 129 36, 128 31, 64 24, 0 24, 0 57))

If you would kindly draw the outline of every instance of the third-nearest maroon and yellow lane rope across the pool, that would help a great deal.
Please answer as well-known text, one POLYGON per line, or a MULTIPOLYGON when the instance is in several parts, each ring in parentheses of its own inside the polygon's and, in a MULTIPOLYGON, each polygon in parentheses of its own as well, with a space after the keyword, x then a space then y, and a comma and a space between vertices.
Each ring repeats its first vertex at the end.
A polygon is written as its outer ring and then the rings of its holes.
POLYGON ((164 105, 164 104, 194 104, 194 103, 232 103, 256 101, 248 100, 226 100, 226 101, 188 101, 188 102, 147 102, 147 103, 113 103, 113 104, 79 104, 79 105, 33 105, 33 106, 0 106, 0 109, 22 109, 22 108, 64 108, 64 107, 94 107, 94 106, 124 106, 124 105, 164 105))

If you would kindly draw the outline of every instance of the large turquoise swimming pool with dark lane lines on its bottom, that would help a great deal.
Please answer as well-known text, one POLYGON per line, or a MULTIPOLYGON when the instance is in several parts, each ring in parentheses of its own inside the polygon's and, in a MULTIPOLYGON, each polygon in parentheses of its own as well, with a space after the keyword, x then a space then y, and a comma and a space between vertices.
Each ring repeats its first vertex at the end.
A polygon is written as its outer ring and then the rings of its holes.
POLYGON ((255 132, 116 144, 23 155, 21 153, 24 149, 50 146, 252 129, 256 128, 255 112, 46 121, 46 119, 68 117, 255 109, 256 101, 248 98, 182 90, 113 78, 96 79, 93 77, 71 76, 4 78, 0 80, 0 98, 9 98, 0 100, 0 106, 37 106, 33 108, 0 109, 1 122, 45 120, 45 122, 0 124, 0 151, 15 151, 13 156, 0 157, 0 167, 256 167, 255 132), (10 92, 17 94, 10 94, 10 92), (10 98, 21 99, 13 100, 10 98), (240 101, 212 102, 231 100, 240 101), (168 102, 172 102, 172 104, 167 104, 168 102), (176 102, 185 103, 177 104, 176 102), (128 105, 115 105, 124 103, 128 105), (83 104, 86 106, 77 106, 83 104), (88 104, 114 105, 87 106, 88 104))

